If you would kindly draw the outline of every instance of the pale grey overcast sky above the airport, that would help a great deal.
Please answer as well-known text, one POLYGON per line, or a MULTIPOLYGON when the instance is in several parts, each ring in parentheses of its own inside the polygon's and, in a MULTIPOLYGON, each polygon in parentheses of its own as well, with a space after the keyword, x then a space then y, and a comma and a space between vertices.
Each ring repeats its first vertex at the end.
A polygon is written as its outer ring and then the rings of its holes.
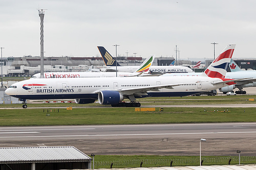
POLYGON ((254 58, 256 1, 249 0, 1 0, 3 57, 40 56, 40 18, 45 10, 45 56, 214 58, 236 43, 233 58, 254 58))

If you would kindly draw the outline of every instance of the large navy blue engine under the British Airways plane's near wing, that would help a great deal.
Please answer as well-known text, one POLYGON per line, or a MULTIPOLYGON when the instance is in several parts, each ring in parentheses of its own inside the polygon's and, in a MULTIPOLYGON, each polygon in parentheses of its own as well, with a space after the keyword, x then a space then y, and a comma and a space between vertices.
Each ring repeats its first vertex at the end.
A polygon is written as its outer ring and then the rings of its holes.
POLYGON ((98 93, 99 104, 116 105, 123 100, 123 95, 118 91, 103 90, 98 93))

